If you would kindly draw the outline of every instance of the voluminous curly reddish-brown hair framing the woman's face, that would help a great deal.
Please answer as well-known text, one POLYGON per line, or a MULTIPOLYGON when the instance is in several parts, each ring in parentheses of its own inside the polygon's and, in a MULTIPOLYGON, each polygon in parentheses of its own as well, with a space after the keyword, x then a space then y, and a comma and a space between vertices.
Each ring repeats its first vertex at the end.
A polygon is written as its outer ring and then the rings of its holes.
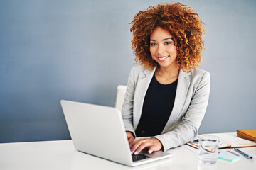
POLYGON ((145 11, 139 11, 134 16, 130 31, 133 33, 132 50, 136 64, 153 70, 159 64, 155 62, 149 51, 150 35, 156 27, 169 30, 174 36, 178 55, 176 61, 179 69, 191 72, 199 66, 204 49, 202 35, 203 22, 198 14, 181 3, 158 4, 150 6, 145 11))

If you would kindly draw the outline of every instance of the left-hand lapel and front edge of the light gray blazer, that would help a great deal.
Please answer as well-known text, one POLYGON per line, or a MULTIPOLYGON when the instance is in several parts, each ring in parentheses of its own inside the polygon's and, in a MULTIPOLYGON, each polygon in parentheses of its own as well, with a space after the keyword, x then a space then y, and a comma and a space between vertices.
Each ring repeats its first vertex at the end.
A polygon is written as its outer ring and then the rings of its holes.
POLYGON ((137 81, 137 86, 134 92, 134 129, 137 129, 139 124, 139 119, 142 115, 142 107, 144 98, 146 96, 146 91, 149 88, 149 84, 154 75, 156 68, 151 72, 149 69, 144 69, 143 72, 139 74, 139 80, 137 81))

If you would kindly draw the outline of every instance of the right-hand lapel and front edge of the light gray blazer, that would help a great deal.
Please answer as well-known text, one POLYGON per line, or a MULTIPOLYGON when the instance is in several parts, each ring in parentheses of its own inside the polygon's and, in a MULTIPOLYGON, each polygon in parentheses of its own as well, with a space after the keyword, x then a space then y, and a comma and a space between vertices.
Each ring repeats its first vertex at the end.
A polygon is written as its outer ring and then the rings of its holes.
POLYGON ((179 115, 181 114, 181 110, 183 108, 184 102, 186 101, 186 96, 188 94, 188 88, 191 84, 191 72, 183 72, 180 70, 178 74, 178 84, 176 89, 176 96, 174 101, 174 107, 171 111, 171 115, 169 120, 166 123, 166 126, 162 133, 167 132, 171 125, 174 124, 179 115))

